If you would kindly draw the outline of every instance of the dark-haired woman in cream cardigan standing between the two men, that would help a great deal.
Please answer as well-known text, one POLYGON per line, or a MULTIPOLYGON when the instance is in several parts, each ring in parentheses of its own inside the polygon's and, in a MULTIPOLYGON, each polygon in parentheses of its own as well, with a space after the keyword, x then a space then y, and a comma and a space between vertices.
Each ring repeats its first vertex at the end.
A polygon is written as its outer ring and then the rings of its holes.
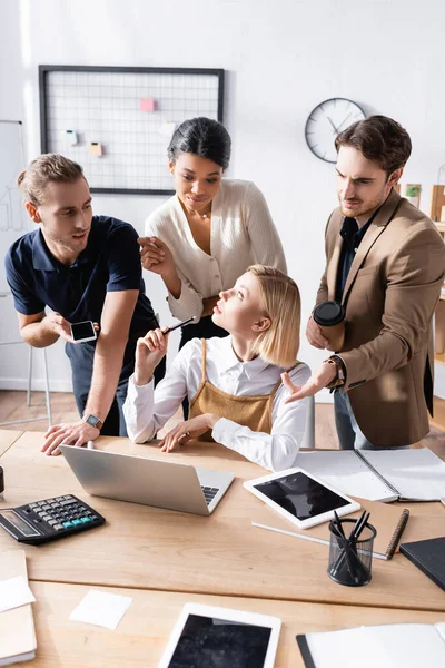
POLYGON ((286 273, 286 259, 261 191, 250 181, 222 179, 230 136, 220 122, 184 121, 168 157, 176 195, 148 217, 139 243, 144 267, 164 279, 172 315, 196 316, 182 328, 182 347, 195 337, 227 336, 211 321, 219 293, 256 263, 286 273))

